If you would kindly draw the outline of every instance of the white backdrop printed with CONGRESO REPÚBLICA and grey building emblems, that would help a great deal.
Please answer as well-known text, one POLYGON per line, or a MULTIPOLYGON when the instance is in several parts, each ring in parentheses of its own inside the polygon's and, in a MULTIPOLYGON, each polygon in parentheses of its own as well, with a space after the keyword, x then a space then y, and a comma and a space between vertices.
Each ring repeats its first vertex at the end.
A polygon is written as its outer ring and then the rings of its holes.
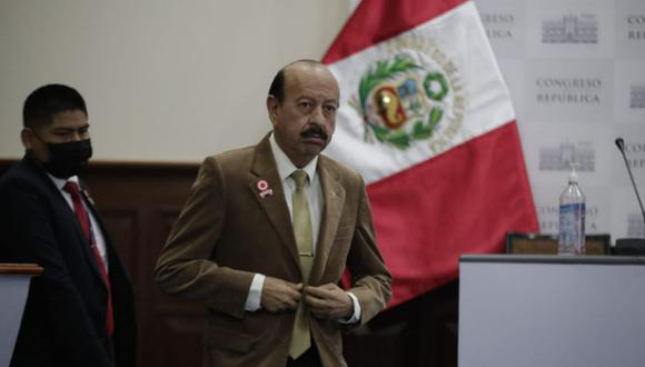
POLYGON ((645 1, 475 2, 515 103, 540 231, 557 232, 575 161, 587 231, 644 237, 614 140, 625 138, 645 191, 645 1))

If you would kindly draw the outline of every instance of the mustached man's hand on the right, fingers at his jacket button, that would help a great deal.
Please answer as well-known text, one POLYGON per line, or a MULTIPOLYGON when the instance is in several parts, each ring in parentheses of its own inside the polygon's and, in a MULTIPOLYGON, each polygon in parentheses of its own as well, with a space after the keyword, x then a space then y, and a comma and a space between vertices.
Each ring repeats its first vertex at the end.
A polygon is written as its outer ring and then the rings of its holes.
POLYGON ((320 319, 348 319, 354 315, 351 298, 335 284, 305 288, 305 302, 311 314, 320 319))

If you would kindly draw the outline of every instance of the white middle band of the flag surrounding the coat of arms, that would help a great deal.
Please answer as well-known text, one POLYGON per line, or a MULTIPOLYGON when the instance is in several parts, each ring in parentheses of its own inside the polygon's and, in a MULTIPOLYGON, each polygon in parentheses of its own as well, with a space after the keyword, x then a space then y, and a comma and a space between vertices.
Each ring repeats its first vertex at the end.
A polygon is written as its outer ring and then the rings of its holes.
POLYGON ((413 30, 330 65, 340 86, 343 103, 336 133, 325 152, 355 167, 366 182, 371 184, 513 121, 515 112, 508 89, 485 34, 475 4, 466 2, 413 30), (455 80, 463 86, 460 93, 465 107, 460 127, 449 127, 441 120, 436 138, 414 141, 405 150, 366 141, 365 121, 358 110, 348 105, 349 99, 358 95, 360 78, 370 66, 377 60, 391 59, 393 49, 400 46, 401 40, 418 38, 434 44, 457 69, 455 80), (438 143, 441 141, 444 143, 438 143))

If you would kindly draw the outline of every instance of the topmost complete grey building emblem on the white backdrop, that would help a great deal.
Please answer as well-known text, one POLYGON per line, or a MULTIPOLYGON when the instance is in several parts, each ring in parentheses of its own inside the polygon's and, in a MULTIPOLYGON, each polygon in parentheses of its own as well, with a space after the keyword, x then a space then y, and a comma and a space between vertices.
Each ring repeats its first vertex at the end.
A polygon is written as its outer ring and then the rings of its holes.
POLYGON ((598 43, 598 20, 594 14, 565 16, 542 23, 543 43, 598 43))

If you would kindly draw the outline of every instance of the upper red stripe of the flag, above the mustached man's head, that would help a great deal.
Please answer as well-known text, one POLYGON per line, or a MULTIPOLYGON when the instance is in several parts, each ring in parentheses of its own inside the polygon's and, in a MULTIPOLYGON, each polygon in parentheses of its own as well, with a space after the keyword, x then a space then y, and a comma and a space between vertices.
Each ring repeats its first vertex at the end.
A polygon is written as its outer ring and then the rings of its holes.
POLYGON ((327 50, 322 62, 333 63, 345 59, 420 26, 464 2, 467 1, 363 0, 327 50))

